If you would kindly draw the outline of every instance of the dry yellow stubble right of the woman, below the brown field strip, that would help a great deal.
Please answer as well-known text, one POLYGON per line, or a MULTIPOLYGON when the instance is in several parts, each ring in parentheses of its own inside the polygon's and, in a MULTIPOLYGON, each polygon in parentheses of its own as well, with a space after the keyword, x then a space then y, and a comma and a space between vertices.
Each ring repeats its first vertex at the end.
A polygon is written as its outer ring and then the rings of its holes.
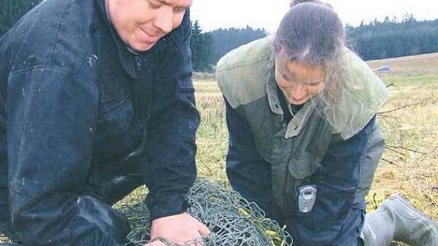
POLYGON ((402 192, 438 220, 438 83, 393 88, 382 110, 409 104, 417 105, 380 117, 387 149, 368 195, 368 208, 392 192, 402 192))

